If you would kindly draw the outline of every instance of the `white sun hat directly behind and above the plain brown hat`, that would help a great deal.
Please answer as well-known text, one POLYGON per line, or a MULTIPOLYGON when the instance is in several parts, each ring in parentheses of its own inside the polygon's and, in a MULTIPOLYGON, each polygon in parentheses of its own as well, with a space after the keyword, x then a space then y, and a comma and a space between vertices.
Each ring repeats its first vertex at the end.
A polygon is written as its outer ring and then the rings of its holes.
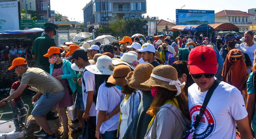
POLYGON ((134 68, 138 65, 138 60, 135 54, 124 53, 120 59, 115 59, 112 61, 112 63, 113 65, 125 64, 134 70, 134 68))

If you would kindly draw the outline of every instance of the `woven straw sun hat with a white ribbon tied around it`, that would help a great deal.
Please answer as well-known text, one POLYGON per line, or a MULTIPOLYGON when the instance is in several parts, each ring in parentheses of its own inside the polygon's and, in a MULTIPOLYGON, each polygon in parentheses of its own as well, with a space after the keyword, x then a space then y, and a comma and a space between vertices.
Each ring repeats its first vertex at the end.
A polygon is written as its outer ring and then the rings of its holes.
POLYGON ((183 88, 181 82, 178 80, 178 72, 171 65, 156 66, 153 69, 150 78, 146 82, 141 83, 141 85, 145 85, 149 88, 161 87, 172 91, 178 91, 175 96, 178 96, 183 88))

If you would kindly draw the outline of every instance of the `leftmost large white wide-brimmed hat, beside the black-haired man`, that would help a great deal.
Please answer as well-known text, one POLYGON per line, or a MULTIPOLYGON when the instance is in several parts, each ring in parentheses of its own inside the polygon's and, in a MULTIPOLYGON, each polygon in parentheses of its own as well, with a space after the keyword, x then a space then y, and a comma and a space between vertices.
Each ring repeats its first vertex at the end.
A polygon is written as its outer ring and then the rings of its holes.
POLYGON ((97 59, 96 65, 88 65, 85 67, 92 74, 111 75, 114 67, 112 59, 109 56, 103 55, 97 59))

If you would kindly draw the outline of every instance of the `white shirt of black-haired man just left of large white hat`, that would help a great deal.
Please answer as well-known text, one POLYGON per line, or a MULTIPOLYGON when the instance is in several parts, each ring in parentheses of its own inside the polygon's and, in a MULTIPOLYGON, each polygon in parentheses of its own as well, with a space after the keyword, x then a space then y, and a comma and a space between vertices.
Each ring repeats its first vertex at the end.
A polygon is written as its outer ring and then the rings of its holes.
MULTIPOLYGON (((95 90, 95 75, 92 74, 91 72, 85 71, 85 70, 86 69, 84 68, 84 70, 83 70, 84 74, 82 77, 85 82, 85 86, 82 83, 82 100, 83 100, 84 109, 86 108, 86 102, 87 102, 87 96, 88 96, 87 92, 95 90), (84 93, 83 90, 85 90, 85 89, 86 89, 86 92, 84 93)), ((93 101, 91 103, 89 115, 96 116, 95 103, 93 101)))

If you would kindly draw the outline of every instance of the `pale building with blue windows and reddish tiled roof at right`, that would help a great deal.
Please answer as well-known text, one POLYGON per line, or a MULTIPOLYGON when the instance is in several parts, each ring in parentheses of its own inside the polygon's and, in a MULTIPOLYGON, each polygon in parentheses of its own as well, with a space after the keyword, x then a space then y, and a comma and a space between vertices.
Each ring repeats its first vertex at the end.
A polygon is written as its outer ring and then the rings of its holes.
POLYGON ((239 10, 222 10, 215 14, 215 23, 232 23, 238 26, 239 32, 245 32, 253 24, 250 20, 252 16, 239 10))

